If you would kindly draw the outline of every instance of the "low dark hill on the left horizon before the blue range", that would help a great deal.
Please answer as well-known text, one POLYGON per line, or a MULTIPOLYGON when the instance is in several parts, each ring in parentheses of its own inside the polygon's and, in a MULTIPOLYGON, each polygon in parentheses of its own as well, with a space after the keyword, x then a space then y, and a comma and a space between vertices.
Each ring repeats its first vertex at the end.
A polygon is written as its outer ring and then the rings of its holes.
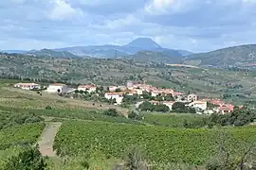
POLYGON ((54 51, 50 49, 42 49, 42 50, 31 50, 27 52, 27 55, 32 55, 32 56, 39 56, 39 57, 54 57, 54 58, 78 58, 78 56, 67 52, 67 51, 54 51))

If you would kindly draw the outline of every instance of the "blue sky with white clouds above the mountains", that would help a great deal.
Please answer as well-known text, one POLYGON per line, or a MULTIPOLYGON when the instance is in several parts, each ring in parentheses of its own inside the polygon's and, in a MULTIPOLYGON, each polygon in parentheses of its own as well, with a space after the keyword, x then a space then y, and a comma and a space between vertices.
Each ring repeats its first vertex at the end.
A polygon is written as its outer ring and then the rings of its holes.
POLYGON ((256 0, 1 0, 0 49, 125 44, 193 52, 256 43, 256 0))

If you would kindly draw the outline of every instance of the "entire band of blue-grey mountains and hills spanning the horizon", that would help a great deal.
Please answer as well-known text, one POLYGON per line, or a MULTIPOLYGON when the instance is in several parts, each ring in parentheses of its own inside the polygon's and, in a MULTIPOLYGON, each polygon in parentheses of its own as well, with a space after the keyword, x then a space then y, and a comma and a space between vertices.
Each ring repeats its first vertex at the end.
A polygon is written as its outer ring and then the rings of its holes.
POLYGON ((6 53, 22 53, 31 56, 61 58, 122 58, 140 61, 183 63, 203 67, 256 67, 256 44, 245 44, 193 54, 186 50, 163 48, 152 39, 138 38, 125 45, 88 45, 42 50, 7 50, 6 53))

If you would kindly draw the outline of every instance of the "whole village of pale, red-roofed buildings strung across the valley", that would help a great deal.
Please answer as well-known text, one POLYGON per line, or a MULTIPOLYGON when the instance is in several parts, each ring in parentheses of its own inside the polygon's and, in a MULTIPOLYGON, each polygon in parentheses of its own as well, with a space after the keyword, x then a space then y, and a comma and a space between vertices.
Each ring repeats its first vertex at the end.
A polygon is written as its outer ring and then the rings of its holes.
MULTIPOLYGON (((43 90, 46 93, 93 93, 99 96, 99 86, 95 84, 79 85, 77 88, 70 88, 63 83, 53 83, 48 86, 41 86, 37 83, 16 83, 15 88, 24 90, 43 90)), ((128 81, 125 86, 109 86, 104 90, 101 87, 101 93, 106 100, 113 101, 113 105, 122 105, 125 96, 137 96, 135 103, 136 109, 145 102, 151 105, 164 105, 169 111, 174 110, 174 105, 183 104, 186 108, 193 109, 198 114, 225 114, 234 110, 234 105, 227 104, 221 99, 200 98, 195 93, 174 92, 173 89, 162 89, 153 87, 145 83, 128 81), (145 97, 147 94, 148 97, 145 97)), ((73 97, 74 95, 71 95, 73 97)), ((242 108, 240 106, 239 108, 242 108)))

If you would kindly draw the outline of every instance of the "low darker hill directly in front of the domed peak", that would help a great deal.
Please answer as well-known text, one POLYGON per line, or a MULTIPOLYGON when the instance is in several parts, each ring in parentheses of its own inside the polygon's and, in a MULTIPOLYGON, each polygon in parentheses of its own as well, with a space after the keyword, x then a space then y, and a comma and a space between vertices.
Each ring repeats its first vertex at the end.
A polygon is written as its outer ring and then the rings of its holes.
POLYGON ((163 62, 163 63, 181 63, 182 58, 174 56, 168 52, 139 51, 137 54, 124 57, 124 59, 134 59, 143 62, 163 62))

